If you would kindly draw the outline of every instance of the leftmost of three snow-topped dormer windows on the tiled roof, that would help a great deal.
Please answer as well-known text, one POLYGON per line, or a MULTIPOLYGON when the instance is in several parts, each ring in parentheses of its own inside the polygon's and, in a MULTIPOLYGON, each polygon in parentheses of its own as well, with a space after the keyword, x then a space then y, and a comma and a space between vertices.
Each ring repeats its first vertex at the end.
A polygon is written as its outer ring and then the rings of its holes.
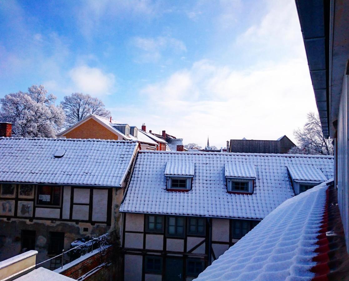
POLYGON ((165 168, 165 176, 167 180, 166 189, 168 191, 191 190, 194 163, 168 162, 165 168))

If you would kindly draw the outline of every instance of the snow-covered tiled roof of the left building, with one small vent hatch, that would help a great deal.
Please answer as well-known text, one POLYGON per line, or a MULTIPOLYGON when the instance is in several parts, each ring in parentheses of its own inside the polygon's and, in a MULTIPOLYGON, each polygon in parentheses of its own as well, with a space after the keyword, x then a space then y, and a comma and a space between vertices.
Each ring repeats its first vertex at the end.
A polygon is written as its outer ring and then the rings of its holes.
POLYGON ((0 138, 0 182, 121 187, 138 142, 0 138), (54 154, 64 150, 62 157, 54 154))

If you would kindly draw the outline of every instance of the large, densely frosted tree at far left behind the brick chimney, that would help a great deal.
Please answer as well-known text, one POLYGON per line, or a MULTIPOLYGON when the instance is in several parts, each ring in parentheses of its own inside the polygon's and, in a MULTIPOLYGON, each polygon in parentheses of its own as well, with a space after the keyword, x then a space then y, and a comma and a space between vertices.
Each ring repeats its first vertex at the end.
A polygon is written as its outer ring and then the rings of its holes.
POLYGON ((32 85, 28 92, 7 94, 0 99, 0 120, 12 123, 16 137, 55 137, 64 124, 64 111, 44 86, 32 85))

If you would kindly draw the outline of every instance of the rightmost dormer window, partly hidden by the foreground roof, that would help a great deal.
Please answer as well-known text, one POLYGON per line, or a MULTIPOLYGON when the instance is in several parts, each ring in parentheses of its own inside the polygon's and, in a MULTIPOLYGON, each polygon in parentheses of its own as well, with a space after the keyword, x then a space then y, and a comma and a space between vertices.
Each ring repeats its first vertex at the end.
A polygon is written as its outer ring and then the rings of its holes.
POLYGON ((292 179, 295 195, 327 181, 321 170, 314 165, 290 164, 287 169, 292 179))

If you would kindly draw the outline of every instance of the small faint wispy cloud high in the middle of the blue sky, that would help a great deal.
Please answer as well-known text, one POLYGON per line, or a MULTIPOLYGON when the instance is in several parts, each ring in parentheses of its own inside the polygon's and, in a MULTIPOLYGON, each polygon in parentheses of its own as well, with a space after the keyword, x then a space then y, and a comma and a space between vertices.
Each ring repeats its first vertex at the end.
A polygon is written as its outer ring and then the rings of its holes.
POLYGON ((137 62, 158 62, 164 52, 176 54, 187 50, 183 41, 170 36, 134 37, 131 43, 137 48, 135 59, 137 62))

